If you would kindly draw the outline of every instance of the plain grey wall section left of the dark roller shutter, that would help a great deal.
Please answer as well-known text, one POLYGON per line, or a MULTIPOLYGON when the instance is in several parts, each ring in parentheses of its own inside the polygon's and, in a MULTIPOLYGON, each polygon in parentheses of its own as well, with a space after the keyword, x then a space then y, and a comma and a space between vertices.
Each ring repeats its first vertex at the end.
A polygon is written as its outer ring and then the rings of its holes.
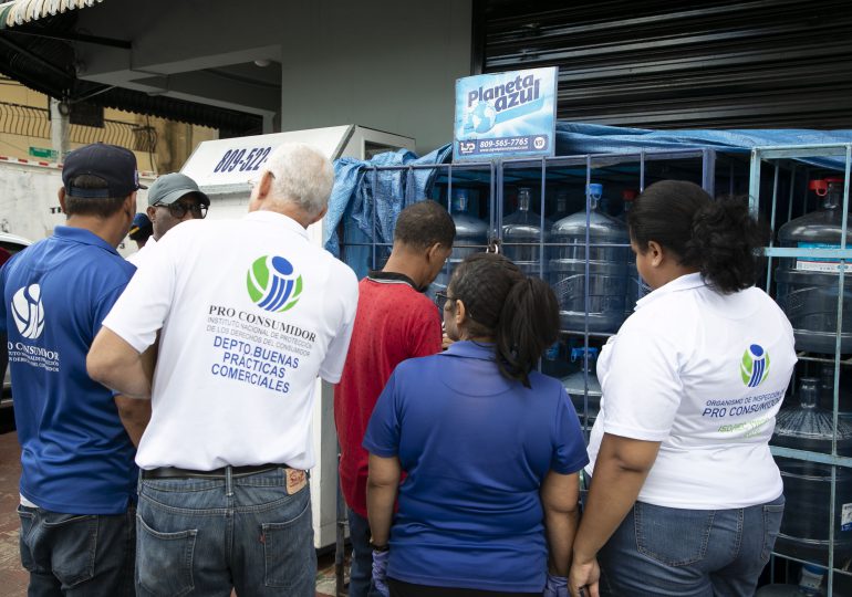
POLYGON ((453 140, 455 81, 470 74, 470 0, 288 4, 281 129, 359 124, 453 140))

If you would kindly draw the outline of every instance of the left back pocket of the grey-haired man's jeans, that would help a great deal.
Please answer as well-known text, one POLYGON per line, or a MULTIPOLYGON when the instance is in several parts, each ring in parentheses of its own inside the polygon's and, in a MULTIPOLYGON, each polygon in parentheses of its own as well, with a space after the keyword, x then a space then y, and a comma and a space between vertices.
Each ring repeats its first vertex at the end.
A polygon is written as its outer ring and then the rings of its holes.
POLYGON ((193 555, 198 531, 162 533, 136 515, 136 583, 152 595, 179 597, 195 588, 193 555))

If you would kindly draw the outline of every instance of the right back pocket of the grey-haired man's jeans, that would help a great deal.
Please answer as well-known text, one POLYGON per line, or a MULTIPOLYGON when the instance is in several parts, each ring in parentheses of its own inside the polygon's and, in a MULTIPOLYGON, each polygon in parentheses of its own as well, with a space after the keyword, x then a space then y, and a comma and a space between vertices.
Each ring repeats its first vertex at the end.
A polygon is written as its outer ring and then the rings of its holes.
MULTIPOLYGON (((298 495, 298 494, 297 494, 298 495)), ((313 551, 311 502, 292 520, 263 523, 264 583, 268 587, 292 589, 304 583, 311 567, 304 565, 304 554, 313 551)))

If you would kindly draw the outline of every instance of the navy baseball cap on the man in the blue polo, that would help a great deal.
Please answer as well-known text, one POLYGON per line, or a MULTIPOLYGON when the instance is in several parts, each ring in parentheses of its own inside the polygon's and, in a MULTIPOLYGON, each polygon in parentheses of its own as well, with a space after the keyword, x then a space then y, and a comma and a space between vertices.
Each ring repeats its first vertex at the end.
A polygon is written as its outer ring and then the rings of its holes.
POLYGON ((135 190, 147 189, 139 185, 136 156, 129 149, 105 143, 93 143, 71 151, 62 166, 65 195, 80 198, 127 197, 135 190), (105 189, 84 189, 71 182, 79 176, 100 178, 105 189))

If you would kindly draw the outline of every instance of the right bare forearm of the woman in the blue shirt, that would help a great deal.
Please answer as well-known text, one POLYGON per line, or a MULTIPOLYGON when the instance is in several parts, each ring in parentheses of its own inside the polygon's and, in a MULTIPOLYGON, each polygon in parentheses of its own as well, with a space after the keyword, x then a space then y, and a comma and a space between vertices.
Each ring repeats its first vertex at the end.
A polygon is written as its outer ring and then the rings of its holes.
POLYGON ((578 501, 580 475, 548 472, 541 483, 541 506, 544 510, 544 532, 550 552, 549 568, 555 576, 568 576, 571 547, 580 520, 578 501))

